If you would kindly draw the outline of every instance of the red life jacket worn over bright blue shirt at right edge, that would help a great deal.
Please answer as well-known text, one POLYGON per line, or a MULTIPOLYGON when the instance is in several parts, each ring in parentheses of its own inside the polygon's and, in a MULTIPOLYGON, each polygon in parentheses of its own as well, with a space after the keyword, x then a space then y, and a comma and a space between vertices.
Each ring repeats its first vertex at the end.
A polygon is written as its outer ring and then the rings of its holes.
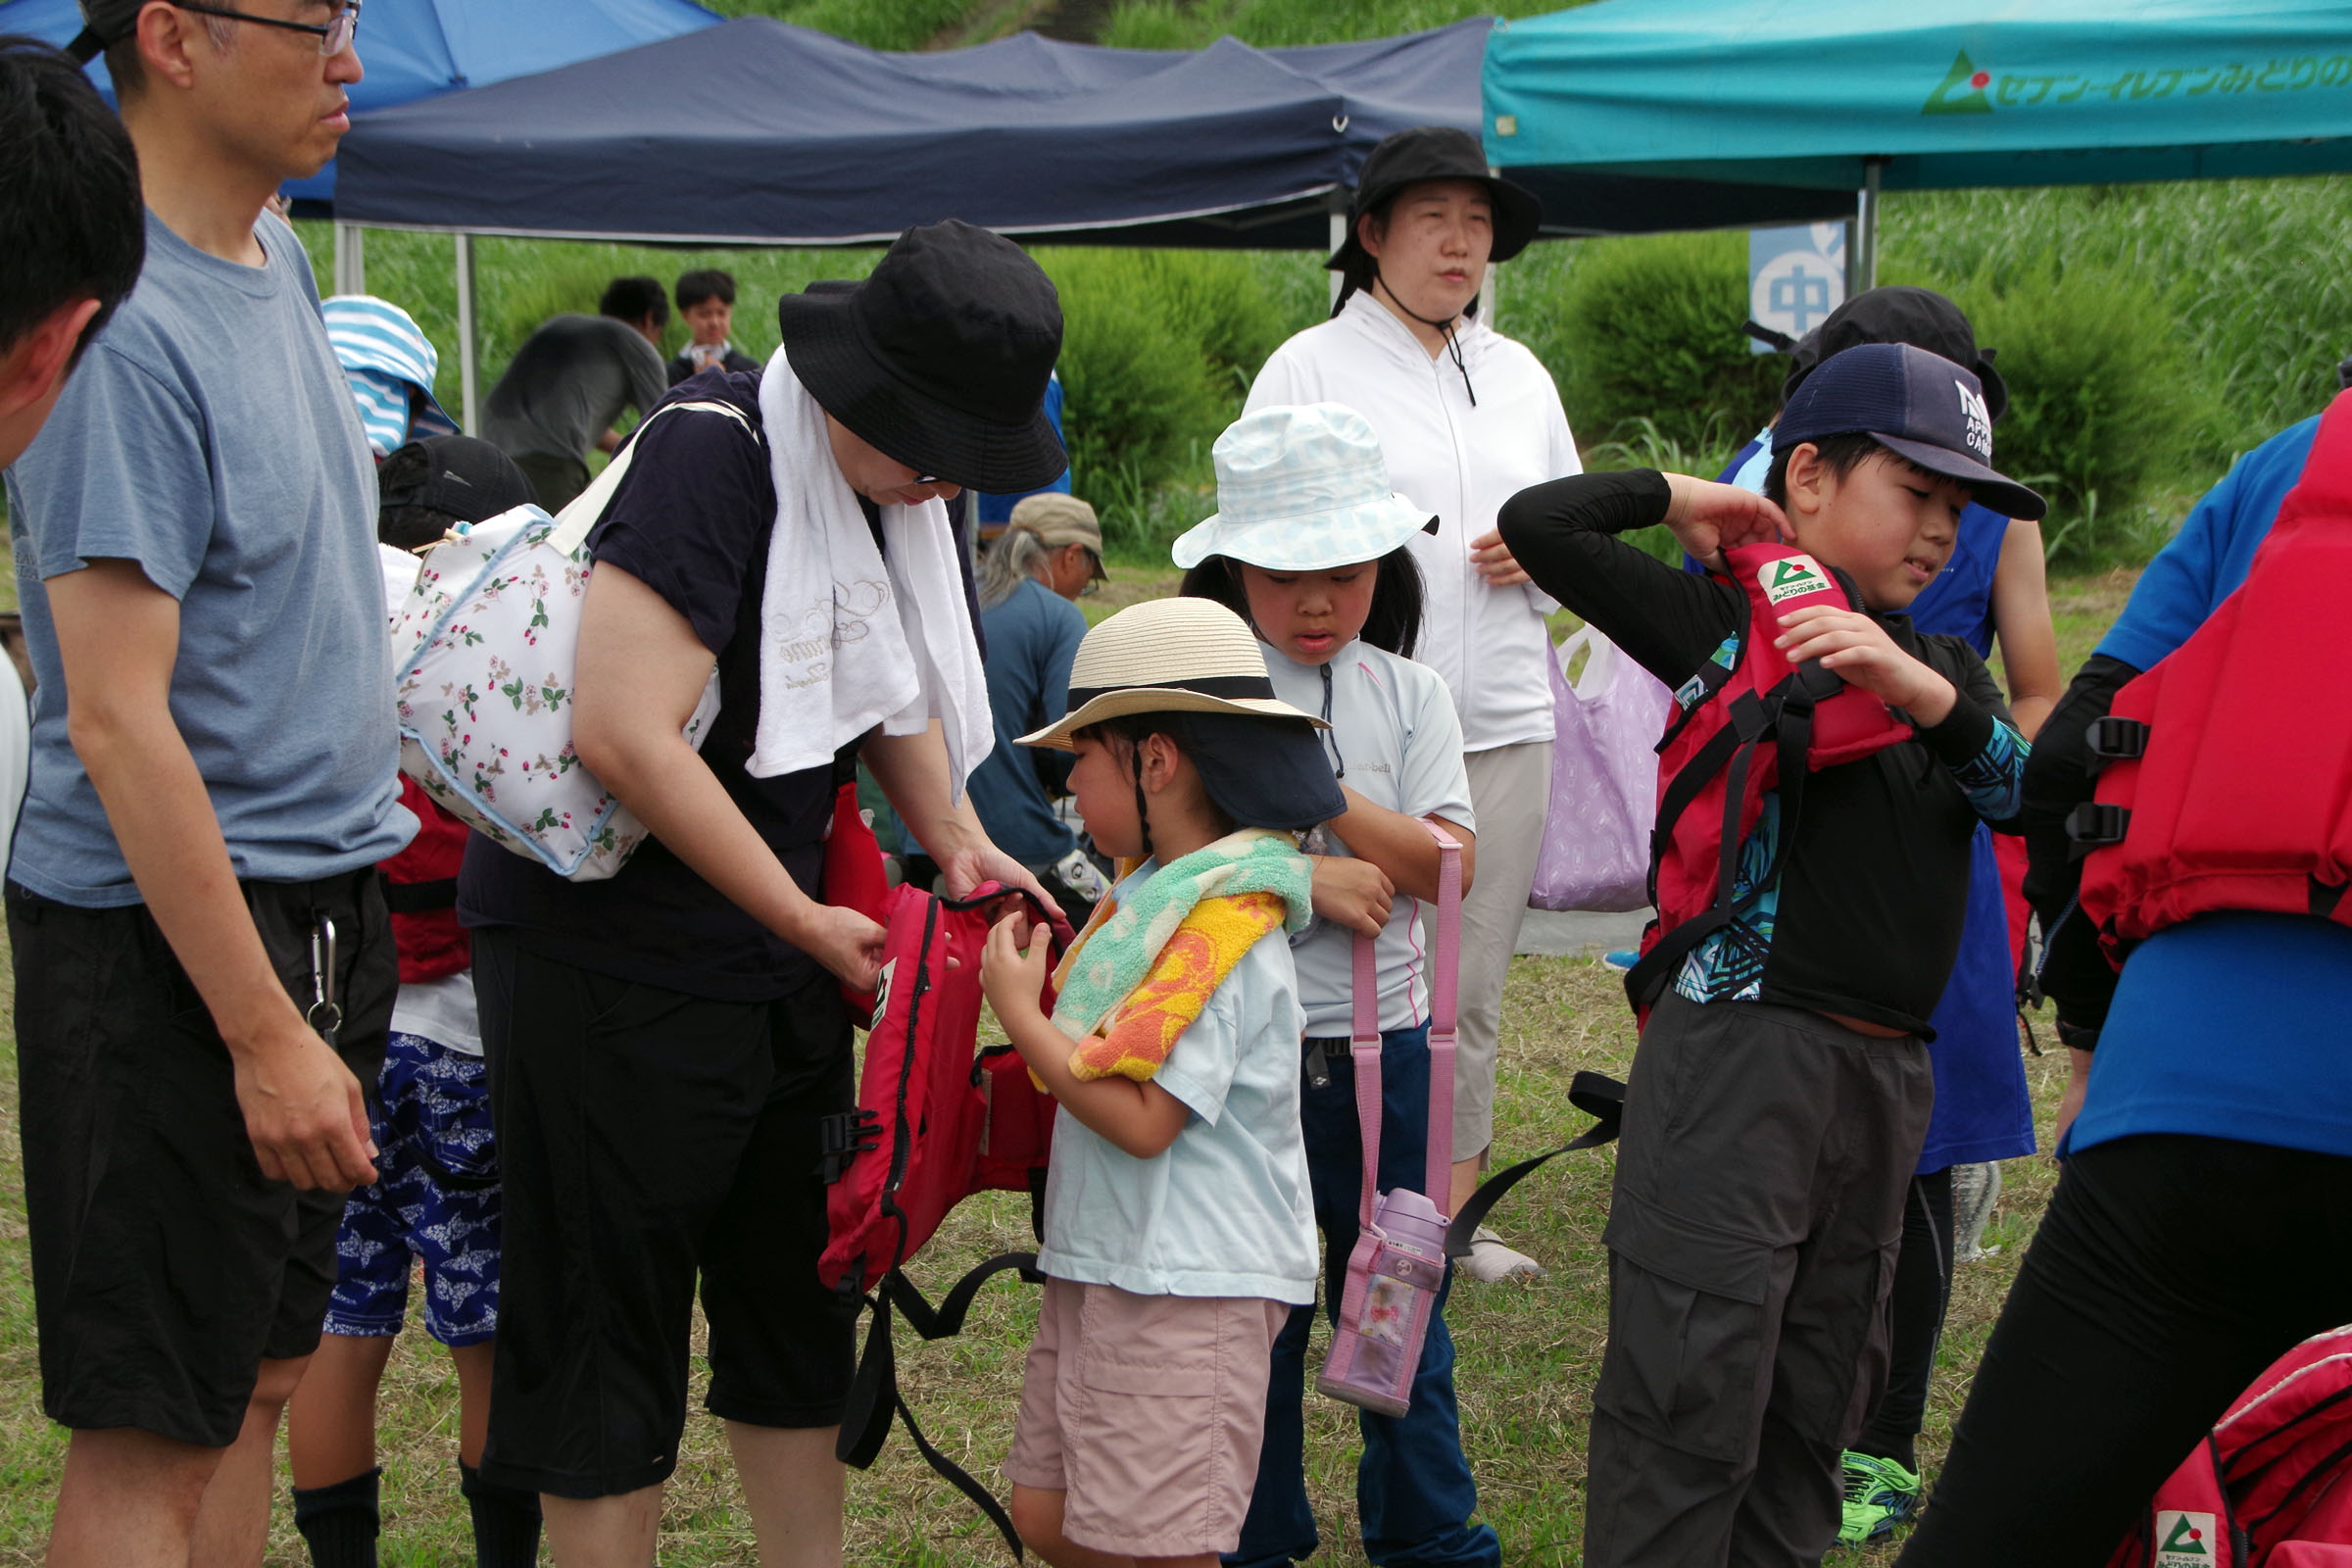
POLYGON ((2352 705, 2317 698, 2352 602, 2352 393, 2336 397, 2246 581, 2114 693, 2067 832, 2107 957, 2213 910, 2352 924, 2352 705))

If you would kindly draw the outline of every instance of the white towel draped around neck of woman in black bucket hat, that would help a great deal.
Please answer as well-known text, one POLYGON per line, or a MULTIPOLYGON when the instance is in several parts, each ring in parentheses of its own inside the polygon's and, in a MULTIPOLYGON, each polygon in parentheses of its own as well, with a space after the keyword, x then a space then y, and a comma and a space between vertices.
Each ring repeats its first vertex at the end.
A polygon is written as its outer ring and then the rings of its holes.
POLYGON ((776 531, 760 597, 760 729, 750 773, 774 778, 833 759, 875 724, 913 736, 936 717, 955 799, 995 745, 988 679, 971 635, 948 508, 884 505, 875 550, 866 512, 833 461, 826 409, 783 350, 760 378, 760 423, 776 473, 776 531))

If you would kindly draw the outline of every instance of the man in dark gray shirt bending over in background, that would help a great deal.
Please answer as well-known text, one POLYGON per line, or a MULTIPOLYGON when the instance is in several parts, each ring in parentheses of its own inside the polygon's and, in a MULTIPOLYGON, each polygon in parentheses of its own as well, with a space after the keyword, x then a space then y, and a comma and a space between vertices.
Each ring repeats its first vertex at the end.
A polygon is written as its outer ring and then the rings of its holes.
POLYGON ((588 489, 588 449, 621 444, 612 421, 642 416, 670 390, 661 329, 670 299, 652 277, 614 277, 597 315, 548 317, 482 404, 482 440, 515 458, 539 505, 564 510, 588 489))

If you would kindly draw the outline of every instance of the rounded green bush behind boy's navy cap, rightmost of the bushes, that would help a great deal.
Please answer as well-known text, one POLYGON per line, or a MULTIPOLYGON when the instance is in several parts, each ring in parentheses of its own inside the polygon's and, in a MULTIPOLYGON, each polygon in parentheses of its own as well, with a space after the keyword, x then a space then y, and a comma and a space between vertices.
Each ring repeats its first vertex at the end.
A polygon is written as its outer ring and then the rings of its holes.
POLYGON ((2049 496, 2051 559, 2131 552, 2119 520, 2133 524, 2152 487, 2180 473, 2204 414, 2166 296, 2110 266, 1980 275, 1952 296, 1999 350, 2009 416, 1994 458, 2049 496))

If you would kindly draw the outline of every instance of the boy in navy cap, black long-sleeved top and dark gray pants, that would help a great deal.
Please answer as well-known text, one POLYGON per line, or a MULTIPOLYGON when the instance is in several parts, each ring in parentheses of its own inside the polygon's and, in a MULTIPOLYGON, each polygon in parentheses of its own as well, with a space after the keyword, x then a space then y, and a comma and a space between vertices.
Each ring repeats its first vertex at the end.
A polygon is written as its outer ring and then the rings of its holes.
MULTIPOLYGON (((1679 964, 1665 945, 1635 969, 1656 990, 1604 1232, 1585 1568, 1811 1566, 1837 1537, 1839 1460, 1886 1378, 1886 1284, 1933 1098, 1922 1039, 1959 952, 1976 823, 2016 832, 2025 773, 2025 738, 1976 651, 1900 614, 1952 555, 1971 498, 2042 515, 1990 458, 1971 371, 1865 343, 1790 397, 1764 496, 1637 470, 1503 505, 1529 576, 1675 686, 1693 722, 1736 733, 1708 698, 1764 658, 1743 637, 1893 710, 1877 715, 1877 750, 1762 797, 1733 851, 1736 903, 1717 905, 1729 922, 1679 964), (1653 524, 1710 576, 1613 538, 1653 524), (1743 552, 1759 581, 1719 576, 1724 550, 1783 538, 1806 555, 1757 567, 1743 552), (1776 578, 1773 564, 1804 571, 1776 578), (1863 609, 1771 611, 1783 581, 1844 597, 1828 574, 1863 609), (1750 604, 1778 625, 1750 628, 1750 604)), ((1705 806, 1672 835, 1708 865, 1726 849, 1705 806)))

